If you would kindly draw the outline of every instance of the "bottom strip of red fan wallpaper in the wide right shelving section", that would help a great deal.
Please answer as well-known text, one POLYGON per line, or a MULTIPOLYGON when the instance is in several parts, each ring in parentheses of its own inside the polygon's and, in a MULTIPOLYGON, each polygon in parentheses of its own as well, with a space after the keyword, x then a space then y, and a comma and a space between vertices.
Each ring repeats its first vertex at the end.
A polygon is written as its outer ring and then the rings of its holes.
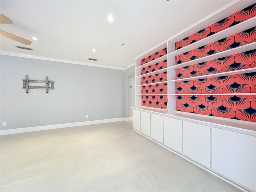
POLYGON ((176 111, 256 122, 256 95, 180 95, 176 111))

